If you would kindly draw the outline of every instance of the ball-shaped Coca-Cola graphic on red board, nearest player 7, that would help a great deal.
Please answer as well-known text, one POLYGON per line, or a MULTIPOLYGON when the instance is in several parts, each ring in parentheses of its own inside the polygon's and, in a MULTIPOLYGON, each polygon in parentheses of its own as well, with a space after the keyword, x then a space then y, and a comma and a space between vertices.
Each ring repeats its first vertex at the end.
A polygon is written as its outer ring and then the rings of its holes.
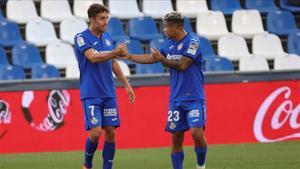
MULTIPOLYGON (((41 110, 30 109, 34 101, 34 92, 25 91, 22 96, 22 110, 26 121, 36 130, 52 131, 64 124, 64 116, 70 103, 70 95, 66 90, 51 90, 47 95, 48 113, 41 121, 35 120, 34 116, 40 114, 41 110)), ((37 98, 39 100, 41 98, 37 98)))

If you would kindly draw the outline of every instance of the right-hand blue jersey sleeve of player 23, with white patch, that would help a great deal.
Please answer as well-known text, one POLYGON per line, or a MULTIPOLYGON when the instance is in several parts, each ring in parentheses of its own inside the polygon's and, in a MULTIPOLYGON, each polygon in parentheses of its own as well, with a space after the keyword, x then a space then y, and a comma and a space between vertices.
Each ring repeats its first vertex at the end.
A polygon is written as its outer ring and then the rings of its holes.
POLYGON ((201 54, 199 41, 190 40, 186 41, 183 45, 182 55, 190 59, 196 60, 197 57, 201 54))

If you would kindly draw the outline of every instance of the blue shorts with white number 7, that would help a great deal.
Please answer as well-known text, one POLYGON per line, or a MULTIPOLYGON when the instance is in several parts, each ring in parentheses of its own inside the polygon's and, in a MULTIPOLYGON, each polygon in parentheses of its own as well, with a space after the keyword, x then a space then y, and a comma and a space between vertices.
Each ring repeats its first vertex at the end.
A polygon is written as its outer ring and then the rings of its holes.
POLYGON ((84 112, 85 130, 94 127, 120 126, 120 117, 115 98, 92 98, 84 99, 81 102, 84 112))

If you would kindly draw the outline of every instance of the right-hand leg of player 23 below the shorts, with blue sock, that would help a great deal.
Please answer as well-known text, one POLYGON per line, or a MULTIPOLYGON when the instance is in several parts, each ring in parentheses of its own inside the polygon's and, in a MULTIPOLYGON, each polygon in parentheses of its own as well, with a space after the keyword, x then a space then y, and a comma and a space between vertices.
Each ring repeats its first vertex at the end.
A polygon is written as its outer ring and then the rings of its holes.
POLYGON ((195 144, 195 152, 197 155, 197 169, 205 168, 205 158, 207 151, 207 143, 203 128, 191 128, 192 137, 195 144))

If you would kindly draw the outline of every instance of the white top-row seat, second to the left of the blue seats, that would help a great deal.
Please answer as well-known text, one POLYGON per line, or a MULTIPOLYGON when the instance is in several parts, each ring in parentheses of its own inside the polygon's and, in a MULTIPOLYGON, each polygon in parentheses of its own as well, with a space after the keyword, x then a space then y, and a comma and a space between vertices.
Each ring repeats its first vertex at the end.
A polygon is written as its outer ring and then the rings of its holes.
POLYGON ((171 11, 173 11, 171 0, 143 0, 143 12, 146 16, 161 19, 171 11))

